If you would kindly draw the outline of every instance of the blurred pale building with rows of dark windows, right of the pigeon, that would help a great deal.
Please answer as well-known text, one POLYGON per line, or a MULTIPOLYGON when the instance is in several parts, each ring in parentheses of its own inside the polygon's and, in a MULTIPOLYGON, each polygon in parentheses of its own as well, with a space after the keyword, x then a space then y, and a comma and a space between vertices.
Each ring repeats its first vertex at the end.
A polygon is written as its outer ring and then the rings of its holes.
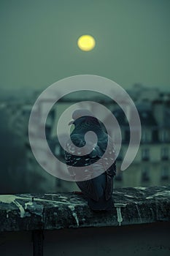
MULTIPOLYGON (((142 140, 134 161, 127 170, 120 166, 128 148, 130 132, 122 110, 115 110, 123 133, 123 144, 117 157, 115 187, 167 185, 170 181, 170 99, 159 97, 136 102, 142 140)), ((133 116, 132 116, 133 118, 133 116)))

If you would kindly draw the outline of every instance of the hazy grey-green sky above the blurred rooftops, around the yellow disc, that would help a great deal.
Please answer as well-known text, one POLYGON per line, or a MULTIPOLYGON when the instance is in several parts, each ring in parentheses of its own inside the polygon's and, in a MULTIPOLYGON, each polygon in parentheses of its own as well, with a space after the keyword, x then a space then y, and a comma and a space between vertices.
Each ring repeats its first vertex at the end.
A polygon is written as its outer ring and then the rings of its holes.
POLYGON ((169 0, 0 0, 1 87, 93 74, 127 89, 170 87, 169 0), (91 34, 96 48, 77 39, 91 34))

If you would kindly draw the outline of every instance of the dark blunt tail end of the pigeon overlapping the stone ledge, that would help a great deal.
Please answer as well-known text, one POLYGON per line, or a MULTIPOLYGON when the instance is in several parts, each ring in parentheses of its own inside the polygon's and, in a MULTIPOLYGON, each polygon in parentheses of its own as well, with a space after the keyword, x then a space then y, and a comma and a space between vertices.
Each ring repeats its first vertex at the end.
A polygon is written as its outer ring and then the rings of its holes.
POLYGON ((98 201, 88 198, 88 206, 93 211, 111 211, 113 208, 112 197, 106 200, 104 196, 100 197, 98 201))

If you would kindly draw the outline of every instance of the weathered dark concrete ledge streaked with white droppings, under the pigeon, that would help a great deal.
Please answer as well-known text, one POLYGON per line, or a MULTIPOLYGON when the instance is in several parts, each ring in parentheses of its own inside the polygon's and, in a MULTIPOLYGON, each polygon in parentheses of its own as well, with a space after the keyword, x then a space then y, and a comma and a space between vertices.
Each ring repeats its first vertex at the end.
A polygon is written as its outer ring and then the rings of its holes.
POLYGON ((83 195, 0 195, 0 231, 58 230, 170 221, 170 186, 115 189, 110 212, 90 211, 83 195))

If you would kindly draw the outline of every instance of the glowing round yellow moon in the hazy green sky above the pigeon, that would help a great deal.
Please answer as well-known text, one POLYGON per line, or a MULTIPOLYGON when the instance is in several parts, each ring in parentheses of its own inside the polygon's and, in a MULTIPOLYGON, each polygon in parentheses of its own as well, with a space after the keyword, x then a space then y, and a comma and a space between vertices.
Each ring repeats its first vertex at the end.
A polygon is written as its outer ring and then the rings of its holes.
POLYGON ((77 45, 81 50, 89 51, 93 50, 96 42, 92 36, 90 36, 89 34, 84 34, 83 36, 79 37, 77 45))

